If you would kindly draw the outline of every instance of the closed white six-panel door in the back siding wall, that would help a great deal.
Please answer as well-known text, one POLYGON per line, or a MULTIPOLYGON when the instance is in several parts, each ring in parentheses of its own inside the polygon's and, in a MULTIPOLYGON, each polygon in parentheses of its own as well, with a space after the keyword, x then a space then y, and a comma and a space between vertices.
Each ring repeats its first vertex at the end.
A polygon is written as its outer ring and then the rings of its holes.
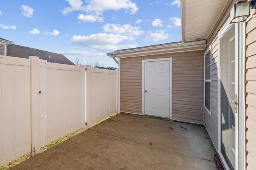
POLYGON ((170 60, 144 62, 144 114, 170 117, 170 60))

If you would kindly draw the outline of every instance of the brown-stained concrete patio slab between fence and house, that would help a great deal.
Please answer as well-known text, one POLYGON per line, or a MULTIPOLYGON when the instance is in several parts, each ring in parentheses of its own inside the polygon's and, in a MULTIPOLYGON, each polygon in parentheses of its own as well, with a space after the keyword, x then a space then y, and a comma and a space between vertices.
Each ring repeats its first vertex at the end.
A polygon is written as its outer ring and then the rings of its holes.
POLYGON ((83 170, 214 170, 205 127, 118 114, 12 167, 83 170))

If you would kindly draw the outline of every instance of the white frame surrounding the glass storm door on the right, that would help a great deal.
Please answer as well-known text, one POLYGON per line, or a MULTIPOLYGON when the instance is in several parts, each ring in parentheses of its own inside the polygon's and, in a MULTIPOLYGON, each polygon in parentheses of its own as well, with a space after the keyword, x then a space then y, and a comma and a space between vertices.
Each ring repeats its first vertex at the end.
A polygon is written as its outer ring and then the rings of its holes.
MULTIPOLYGON (((220 113, 220 38, 234 24, 230 24, 229 20, 226 21, 220 32, 218 33, 218 154, 225 168, 228 167, 224 156, 221 153, 221 113, 220 113)), ((246 168, 246 154, 245 154, 245 24, 235 24, 235 55, 236 55, 236 94, 238 94, 238 106, 235 113, 236 117, 236 169, 243 170, 246 168)))

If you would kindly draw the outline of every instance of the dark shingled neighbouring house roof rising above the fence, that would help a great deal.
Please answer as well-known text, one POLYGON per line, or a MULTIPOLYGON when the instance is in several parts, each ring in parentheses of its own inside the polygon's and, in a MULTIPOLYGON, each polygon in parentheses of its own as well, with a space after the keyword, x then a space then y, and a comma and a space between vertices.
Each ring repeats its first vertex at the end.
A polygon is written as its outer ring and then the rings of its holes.
POLYGON ((47 62, 50 63, 75 65, 74 63, 72 63, 72 61, 70 61, 62 54, 52 53, 39 49, 32 49, 29 47, 23 47, 14 44, 10 44, 7 46, 7 56, 20 57, 25 59, 28 59, 29 56, 37 56, 39 57, 39 59, 47 60, 47 62))

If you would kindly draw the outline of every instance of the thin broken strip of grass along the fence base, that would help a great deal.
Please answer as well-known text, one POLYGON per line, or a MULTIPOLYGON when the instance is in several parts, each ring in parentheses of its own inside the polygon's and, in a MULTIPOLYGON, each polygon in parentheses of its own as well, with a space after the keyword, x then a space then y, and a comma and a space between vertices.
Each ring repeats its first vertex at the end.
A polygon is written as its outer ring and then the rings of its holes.
MULTIPOLYGON (((104 121, 104 120, 106 120, 106 119, 108 119, 108 118, 110 118, 112 116, 114 116, 114 114, 110 115, 110 116, 108 116, 108 117, 106 117, 104 119, 101 119, 100 121, 97 121, 97 122, 93 123, 91 126, 95 126, 95 125, 99 124, 100 122, 102 122, 102 121, 104 121)), ((69 138, 71 138, 71 137, 81 133, 84 130, 85 130, 84 128, 78 129, 77 131, 74 131, 74 132, 72 132, 72 133, 70 133, 70 134, 68 134, 68 135, 66 135, 64 137, 61 137, 61 138, 59 138, 59 139, 57 139, 55 141, 52 141, 51 143, 48 143, 44 147, 40 148, 40 151, 44 152, 45 150, 47 150, 47 149, 49 149, 49 148, 51 148, 51 147, 53 147, 53 146, 55 146, 55 145, 57 145, 59 143, 62 143, 63 141, 66 141, 67 139, 69 139, 69 138)), ((8 170, 12 166, 15 166, 15 165, 17 165, 17 164, 19 164, 19 163, 21 163, 21 162, 23 162, 23 161, 25 161, 25 160, 27 160, 29 158, 30 158, 30 153, 26 154, 26 155, 24 155, 24 156, 22 156, 22 157, 20 157, 20 158, 18 158, 16 160, 14 160, 14 161, 12 161, 12 162, 9 162, 8 164, 5 164, 4 166, 1 166, 0 170, 8 170)))

